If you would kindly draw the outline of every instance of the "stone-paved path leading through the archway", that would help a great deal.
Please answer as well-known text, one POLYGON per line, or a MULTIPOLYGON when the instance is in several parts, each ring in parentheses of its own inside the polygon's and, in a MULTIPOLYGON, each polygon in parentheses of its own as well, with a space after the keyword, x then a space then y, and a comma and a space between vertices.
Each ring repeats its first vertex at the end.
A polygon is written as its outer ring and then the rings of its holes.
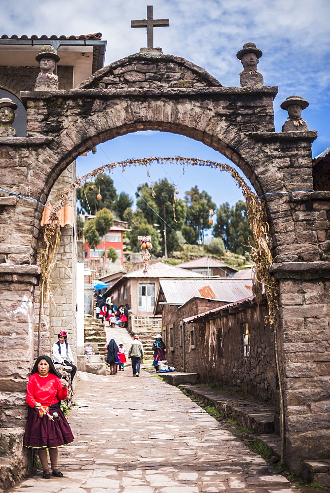
POLYGON ((39 473, 12 492, 297 492, 178 388, 147 372, 80 373, 76 400, 75 441, 60 449, 64 477, 39 473))

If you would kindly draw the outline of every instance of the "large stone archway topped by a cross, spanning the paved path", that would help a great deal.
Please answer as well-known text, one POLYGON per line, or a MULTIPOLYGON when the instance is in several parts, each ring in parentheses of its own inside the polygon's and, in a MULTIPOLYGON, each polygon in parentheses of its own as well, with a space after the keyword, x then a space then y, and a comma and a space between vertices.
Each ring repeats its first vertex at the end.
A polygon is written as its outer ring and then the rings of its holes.
MULTIPOLYGON (((303 458, 329 453, 329 427, 324 419, 315 424, 321 411, 311 407, 320 400, 317 395, 330 396, 320 379, 330 374, 330 254, 329 244, 322 243, 330 228, 329 194, 300 193, 312 190, 311 142, 317 134, 275 133, 276 93, 277 87, 222 87, 205 70, 160 53, 115 62, 74 90, 23 92, 28 137, 0 139, 0 163, 6 170, 1 188, 44 204, 55 180, 76 156, 137 130, 183 134, 234 162, 258 195, 266 194, 276 257, 272 270, 280 283, 286 408, 290 407, 287 457, 298 472, 303 458)), ((1 193, 1 320, 15 335, 2 344, 6 355, 0 388, 8 394, 2 398, 0 424, 16 426, 25 416, 24 388, 33 354, 37 235, 43 208, 1 193)))

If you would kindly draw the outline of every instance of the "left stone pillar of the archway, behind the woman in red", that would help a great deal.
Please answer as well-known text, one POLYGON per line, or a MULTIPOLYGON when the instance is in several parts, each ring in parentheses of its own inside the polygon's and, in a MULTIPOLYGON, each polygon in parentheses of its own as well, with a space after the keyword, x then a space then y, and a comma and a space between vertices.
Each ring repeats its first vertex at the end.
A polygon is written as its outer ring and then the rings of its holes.
POLYGON ((34 345, 35 265, 0 264, 0 427, 21 427, 26 419, 26 384, 34 345))

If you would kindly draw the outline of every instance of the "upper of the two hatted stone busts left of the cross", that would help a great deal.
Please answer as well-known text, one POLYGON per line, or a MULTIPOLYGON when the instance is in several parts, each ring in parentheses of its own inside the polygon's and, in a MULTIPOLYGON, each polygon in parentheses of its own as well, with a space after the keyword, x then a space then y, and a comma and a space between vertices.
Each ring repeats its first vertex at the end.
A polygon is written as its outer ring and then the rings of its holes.
POLYGON ((57 91, 58 77, 53 72, 60 57, 53 46, 42 46, 41 53, 36 56, 40 73, 37 76, 35 91, 57 91))

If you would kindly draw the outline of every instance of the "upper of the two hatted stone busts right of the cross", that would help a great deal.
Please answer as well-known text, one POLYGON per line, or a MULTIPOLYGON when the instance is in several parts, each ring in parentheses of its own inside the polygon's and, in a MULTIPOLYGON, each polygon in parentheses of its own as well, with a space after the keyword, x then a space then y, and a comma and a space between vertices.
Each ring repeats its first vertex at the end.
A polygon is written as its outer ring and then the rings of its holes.
POLYGON ((241 60, 244 69, 239 74, 241 87, 263 86, 263 77, 257 70, 258 59, 262 57, 262 51, 256 47, 255 43, 245 43, 236 56, 238 60, 241 60))

